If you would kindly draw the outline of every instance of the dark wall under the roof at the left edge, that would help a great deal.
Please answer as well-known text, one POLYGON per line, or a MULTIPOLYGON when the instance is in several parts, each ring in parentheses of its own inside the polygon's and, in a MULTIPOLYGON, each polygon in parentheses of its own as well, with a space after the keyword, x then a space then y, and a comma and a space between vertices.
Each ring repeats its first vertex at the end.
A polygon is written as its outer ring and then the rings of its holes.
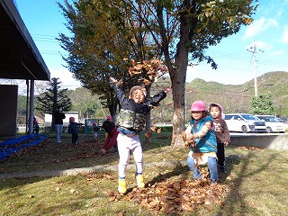
POLYGON ((0 137, 17 134, 18 85, 0 85, 0 137))

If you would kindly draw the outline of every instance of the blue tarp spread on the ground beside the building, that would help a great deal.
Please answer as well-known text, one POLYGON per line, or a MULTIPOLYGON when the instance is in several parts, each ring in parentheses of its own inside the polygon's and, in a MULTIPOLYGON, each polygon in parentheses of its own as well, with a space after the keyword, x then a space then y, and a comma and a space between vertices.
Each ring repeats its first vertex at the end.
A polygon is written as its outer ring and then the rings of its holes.
POLYGON ((47 136, 40 135, 38 137, 36 134, 31 134, 31 135, 19 137, 17 139, 5 139, 3 142, 0 143, 0 161, 6 159, 10 155, 14 154, 14 152, 19 151, 23 148, 35 146, 46 138, 47 136), (21 143, 24 141, 27 141, 27 142, 21 145, 21 143))

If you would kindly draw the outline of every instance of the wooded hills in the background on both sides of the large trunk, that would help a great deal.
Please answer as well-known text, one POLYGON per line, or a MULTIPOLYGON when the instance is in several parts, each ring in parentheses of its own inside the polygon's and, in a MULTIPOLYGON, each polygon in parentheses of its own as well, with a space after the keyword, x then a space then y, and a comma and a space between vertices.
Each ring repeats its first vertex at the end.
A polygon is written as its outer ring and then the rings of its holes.
MULTIPOLYGON (((271 94, 272 100, 277 108, 276 114, 281 117, 288 117, 288 72, 269 72, 257 77, 258 94, 271 94)), ((152 88, 151 94, 158 93, 164 86, 169 85, 165 80, 157 83, 152 88)), ((82 117, 105 118, 109 115, 103 107, 99 97, 91 94, 83 87, 67 92, 73 104, 73 111, 80 113, 82 117)), ((250 112, 250 101, 254 93, 254 80, 250 80, 242 85, 223 85, 217 82, 206 82, 195 78, 186 84, 186 114, 190 115, 190 106, 193 101, 202 100, 205 103, 220 103, 229 112, 250 112)), ((18 98, 18 123, 25 122, 26 96, 18 98)), ((35 114, 38 114, 37 112, 35 114)), ((171 121, 173 119, 172 94, 167 94, 165 100, 161 102, 154 111, 151 112, 152 121, 171 121)))

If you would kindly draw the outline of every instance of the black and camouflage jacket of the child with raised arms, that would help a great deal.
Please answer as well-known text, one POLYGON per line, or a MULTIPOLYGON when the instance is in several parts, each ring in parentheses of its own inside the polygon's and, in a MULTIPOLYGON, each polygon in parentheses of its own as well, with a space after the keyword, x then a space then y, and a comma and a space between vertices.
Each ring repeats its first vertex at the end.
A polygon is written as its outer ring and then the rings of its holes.
POLYGON ((125 95, 121 86, 116 86, 112 83, 112 88, 114 89, 121 105, 121 111, 116 119, 116 126, 131 131, 143 130, 146 123, 147 113, 166 97, 166 93, 162 91, 159 94, 146 99, 144 103, 135 103, 125 95))

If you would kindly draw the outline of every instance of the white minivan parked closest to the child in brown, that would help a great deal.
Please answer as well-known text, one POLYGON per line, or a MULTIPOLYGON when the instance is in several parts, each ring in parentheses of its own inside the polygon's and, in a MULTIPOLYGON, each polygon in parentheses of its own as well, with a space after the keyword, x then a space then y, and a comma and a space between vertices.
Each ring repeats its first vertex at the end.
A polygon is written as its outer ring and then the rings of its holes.
POLYGON ((237 132, 267 132, 266 123, 255 115, 247 113, 225 114, 229 131, 237 132))

